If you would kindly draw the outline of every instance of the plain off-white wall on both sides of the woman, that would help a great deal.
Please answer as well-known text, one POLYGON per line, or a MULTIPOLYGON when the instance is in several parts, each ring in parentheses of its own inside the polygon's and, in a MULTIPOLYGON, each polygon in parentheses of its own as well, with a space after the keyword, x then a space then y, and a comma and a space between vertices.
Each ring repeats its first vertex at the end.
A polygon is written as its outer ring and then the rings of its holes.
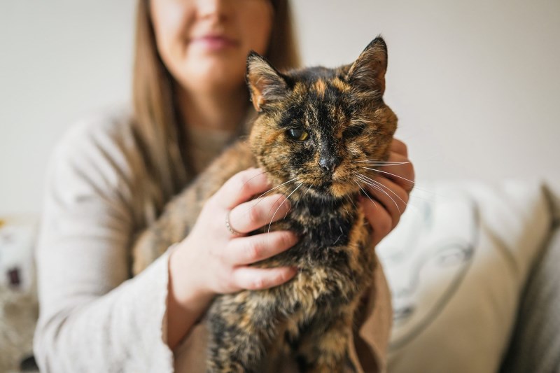
MULTIPOLYGON (((421 180, 560 180, 560 2, 293 1, 304 62, 351 62, 377 34, 386 101, 421 180)), ((134 0, 0 2, 0 215, 37 213, 48 154, 130 94, 134 0)))

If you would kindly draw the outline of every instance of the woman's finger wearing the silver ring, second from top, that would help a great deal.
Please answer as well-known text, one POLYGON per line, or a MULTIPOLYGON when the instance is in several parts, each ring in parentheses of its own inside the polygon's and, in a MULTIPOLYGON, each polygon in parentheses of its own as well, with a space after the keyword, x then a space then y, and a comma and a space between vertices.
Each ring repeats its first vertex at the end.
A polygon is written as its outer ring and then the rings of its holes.
POLYGON ((283 195, 271 195, 245 202, 230 211, 230 227, 248 233, 282 219, 290 211, 290 202, 283 195))

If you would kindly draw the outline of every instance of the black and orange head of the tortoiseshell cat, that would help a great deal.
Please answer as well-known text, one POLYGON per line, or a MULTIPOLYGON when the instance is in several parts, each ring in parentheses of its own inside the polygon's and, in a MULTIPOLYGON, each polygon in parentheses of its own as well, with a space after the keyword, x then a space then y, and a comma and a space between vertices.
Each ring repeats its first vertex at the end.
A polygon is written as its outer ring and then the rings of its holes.
POLYGON ((251 52, 247 83, 258 117, 249 142, 269 178, 317 197, 358 192, 372 174, 365 167, 386 161, 397 125, 383 101, 386 68, 380 37, 337 69, 281 73, 251 52))

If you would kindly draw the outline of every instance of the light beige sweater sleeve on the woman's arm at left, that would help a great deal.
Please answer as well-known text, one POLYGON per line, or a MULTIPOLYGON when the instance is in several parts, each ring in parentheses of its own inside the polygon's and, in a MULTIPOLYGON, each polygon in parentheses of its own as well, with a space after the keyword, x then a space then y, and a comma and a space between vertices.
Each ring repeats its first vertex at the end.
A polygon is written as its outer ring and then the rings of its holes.
POLYGON ((173 372, 168 254, 129 279, 127 155, 91 127, 73 129, 48 170, 36 250, 37 363, 41 372, 173 372))

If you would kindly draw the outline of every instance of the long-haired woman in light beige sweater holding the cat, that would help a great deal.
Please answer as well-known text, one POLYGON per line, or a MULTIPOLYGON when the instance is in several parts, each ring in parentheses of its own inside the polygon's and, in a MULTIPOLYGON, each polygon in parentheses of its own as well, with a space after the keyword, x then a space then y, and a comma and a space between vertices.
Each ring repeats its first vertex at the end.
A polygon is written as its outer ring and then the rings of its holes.
MULTIPOLYGON (((271 218, 278 195, 255 207, 260 218, 241 213, 248 196, 269 188, 249 169, 211 198, 186 239, 130 279, 135 235, 250 121, 248 50, 279 68, 297 65, 286 1, 139 1, 134 112, 83 122, 52 157, 37 251, 35 353, 42 371, 203 372, 206 332, 197 321, 211 299, 278 286, 295 275, 290 268, 248 267, 293 246, 292 233, 233 237, 225 225, 216 227, 228 211, 241 233, 271 218), (236 185, 246 180, 241 192, 236 185), (250 260, 247 248, 257 249, 250 260)), ((400 141, 391 160, 407 161, 400 141)), ((392 171, 414 177, 410 165, 392 171)), ((400 206, 375 190, 379 203, 360 201, 376 243, 405 209, 410 185, 401 180, 379 178, 400 206)), ((370 299, 376 307, 365 309, 356 337, 353 351, 368 371, 384 364, 387 297, 370 299)))

